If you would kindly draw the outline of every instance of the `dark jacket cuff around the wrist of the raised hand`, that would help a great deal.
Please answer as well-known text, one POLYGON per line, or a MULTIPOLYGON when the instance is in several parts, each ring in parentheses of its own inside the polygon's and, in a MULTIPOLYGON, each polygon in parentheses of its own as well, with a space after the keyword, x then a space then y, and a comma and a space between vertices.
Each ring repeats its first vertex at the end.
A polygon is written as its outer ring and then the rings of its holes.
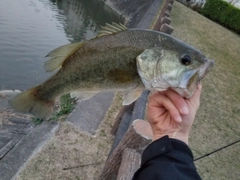
POLYGON ((189 149, 188 145, 184 142, 169 138, 168 136, 163 136, 160 139, 153 141, 143 152, 141 164, 146 163, 150 159, 167 153, 171 150, 178 150, 182 153, 186 153, 193 159, 192 151, 189 149))

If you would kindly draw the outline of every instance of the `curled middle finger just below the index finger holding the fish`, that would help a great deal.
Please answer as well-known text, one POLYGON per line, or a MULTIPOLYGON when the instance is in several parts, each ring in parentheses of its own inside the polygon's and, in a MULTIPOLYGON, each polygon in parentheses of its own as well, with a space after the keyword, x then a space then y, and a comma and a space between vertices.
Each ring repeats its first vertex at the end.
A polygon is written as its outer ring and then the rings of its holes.
POLYGON ((154 114, 154 112, 156 112, 156 108, 159 112, 161 111, 161 108, 164 109, 164 111, 162 111, 163 113, 167 110, 174 121, 178 123, 182 122, 182 117, 178 108, 173 104, 171 99, 159 92, 155 92, 149 97, 148 116, 154 114))

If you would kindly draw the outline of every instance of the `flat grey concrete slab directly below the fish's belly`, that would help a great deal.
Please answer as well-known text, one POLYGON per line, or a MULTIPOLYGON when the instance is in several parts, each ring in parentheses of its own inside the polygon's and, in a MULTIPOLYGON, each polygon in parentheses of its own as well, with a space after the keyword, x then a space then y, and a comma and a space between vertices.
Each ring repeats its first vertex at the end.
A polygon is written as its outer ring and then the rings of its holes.
POLYGON ((81 131, 92 135, 96 134, 113 97, 114 93, 112 92, 101 92, 91 99, 79 102, 67 121, 81 131))

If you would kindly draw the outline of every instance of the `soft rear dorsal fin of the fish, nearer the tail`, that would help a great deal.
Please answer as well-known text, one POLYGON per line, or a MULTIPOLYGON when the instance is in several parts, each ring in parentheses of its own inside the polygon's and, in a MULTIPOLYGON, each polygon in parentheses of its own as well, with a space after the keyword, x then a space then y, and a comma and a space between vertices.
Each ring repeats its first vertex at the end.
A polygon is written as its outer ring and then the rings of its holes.
POLYGON ((63 62, 67 59, 69 55, 74 53, 78 48, 83 46, 83 42, 77 42, 72 44, 67 44, 54 49, 46 57, 50 57, 48 61, 44 63, 44 69, 46 72, 52 72, 60 68, 63 62))

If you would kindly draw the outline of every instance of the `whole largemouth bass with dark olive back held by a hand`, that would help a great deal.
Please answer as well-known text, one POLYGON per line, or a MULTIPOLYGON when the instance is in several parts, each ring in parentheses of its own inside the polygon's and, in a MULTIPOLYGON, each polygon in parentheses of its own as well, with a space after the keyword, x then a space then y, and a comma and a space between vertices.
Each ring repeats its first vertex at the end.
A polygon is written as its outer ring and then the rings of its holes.
POLYGON ((69 92, 80 92, 87 99, 99 91, 128 91, 124 105, 134 102, 145 89, 172 88, 189 98, 214 64, 170 35, 115 23, 103 27, 97 37, 61 46, 47 57, 51 59, 45 70, 59 70, 11 99, 16 111, 47 119, 56 99, 69 92))

